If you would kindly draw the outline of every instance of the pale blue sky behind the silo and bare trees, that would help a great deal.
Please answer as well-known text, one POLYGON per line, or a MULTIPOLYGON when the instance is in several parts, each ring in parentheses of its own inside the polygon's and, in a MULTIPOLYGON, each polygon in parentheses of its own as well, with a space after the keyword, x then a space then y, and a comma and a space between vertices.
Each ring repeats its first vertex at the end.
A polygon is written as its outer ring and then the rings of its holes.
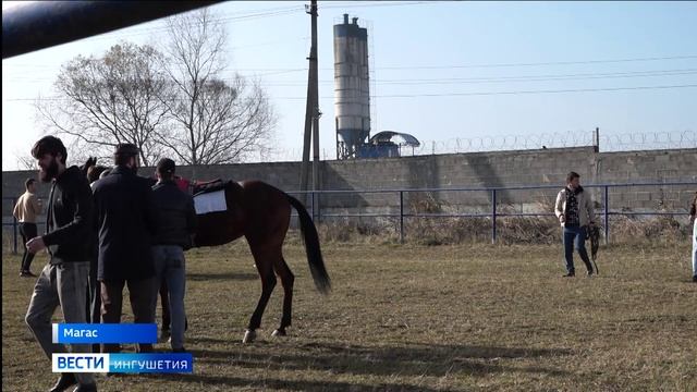
MULTIPOLYGON (((229 74, 258 77, 267 88, 280 160, 302 149, 304 4, 210 8, 229 33, 229 74)), ((368 27, 371 135, 391 130, 451 143, 587 135, 596 126, 606 136, 697 132, 696 2, 319 1, 322 158, 335 157, 332 25, 343 13, 368 27)), ((101 56, 122 39, 157 45, 162 34, 156 21, 3 60, 2 170, 17 169, 16 156, 40 137, 33 103, 56 95, 62 63, 101 56)))

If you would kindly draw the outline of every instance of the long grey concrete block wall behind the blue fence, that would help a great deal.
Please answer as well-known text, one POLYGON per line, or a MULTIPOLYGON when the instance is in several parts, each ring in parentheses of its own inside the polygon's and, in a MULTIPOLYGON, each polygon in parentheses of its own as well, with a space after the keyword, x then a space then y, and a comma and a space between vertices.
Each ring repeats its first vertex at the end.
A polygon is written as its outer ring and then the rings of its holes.
MULTIPOLYGON (((283 191, 296 191, 299 184, 299 162, 273 162, 225 164, 216 167, 180 167, 182 176, 198 180, 216 177, 244 180, 258 179, 283 191)), ((562 185, 568 171, 582 175, 582 183, 646 183, 697 182, 697 148, 596 152, 594 147, 542 149, 522 151, 496 151, 454 154, 388 159, 365 159, 321 162, 323 189, 394 189, 437 187, 504 187, 516 185, 562 185)), ((142 175, 149 175, 152 168, 143 168, 142 175)), ((35 171, 2 173, 2 196, 22 194, 26 177, 35 171)), ((502 191, 498 201, 514 210, 549 208, 558 189, 502 191)), ((684 209, 689 205, 697 185, 664 187, 613 188, 610 193, 612 209, 669 210, 684 209)), ((48 186, 41 184, 39 195, 47 197, 48 186)), ((600 191, 594 191, 601 201, 600 191)), ((408 193, 408 206, 437 200, 451 210, 486 210, 491 194, 487 192, 408 193)), ((399 194, 327 195, 321 198, 322 208, 363 211, 389 207, 398 208, 399 194)), ((11 201, 3 200, 3 220, 11 216, 11 201)), ((414 207, 415 208, 415 207, 414 207)))

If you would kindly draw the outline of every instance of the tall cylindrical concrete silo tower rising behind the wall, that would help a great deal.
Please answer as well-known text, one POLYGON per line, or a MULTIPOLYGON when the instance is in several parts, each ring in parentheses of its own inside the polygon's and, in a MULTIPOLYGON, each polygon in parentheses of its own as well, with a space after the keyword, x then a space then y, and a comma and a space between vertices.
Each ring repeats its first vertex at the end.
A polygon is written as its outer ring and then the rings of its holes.
POLYGON ((334 25, 334 115, 337 159, 356 158, 370 135, 368 30, 348 14, 334 25))

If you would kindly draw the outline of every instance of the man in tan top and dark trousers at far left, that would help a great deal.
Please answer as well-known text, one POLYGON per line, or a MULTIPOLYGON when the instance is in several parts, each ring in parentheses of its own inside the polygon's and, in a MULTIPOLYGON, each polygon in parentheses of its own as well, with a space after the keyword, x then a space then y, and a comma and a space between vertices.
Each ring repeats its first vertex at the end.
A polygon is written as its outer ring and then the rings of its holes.
POLYGON ((12 211, 14 218, 20 222, 20 234, 22 234, 22 246, 24 246, 20 277, 36 278, 29 269, 32 260, 34 260, 34 254, 26 248, 26 243, 38 235, 36 218, 41 215, 42 206, 41 200, 36 197, 36 180, 27 179, 24 182, 24 188, 26 192, 20 196, 12 211))

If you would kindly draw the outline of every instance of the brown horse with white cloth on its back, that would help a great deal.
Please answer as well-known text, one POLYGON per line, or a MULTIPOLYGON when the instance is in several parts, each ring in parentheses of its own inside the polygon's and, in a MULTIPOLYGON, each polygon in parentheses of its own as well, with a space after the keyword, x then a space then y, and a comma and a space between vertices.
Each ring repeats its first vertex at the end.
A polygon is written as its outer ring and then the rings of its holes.
MULTIPOLYGON (((96 159, 90 159, 83 166, 83 171, 91 174, 90 177, 95 177, 95 173, 98 177, 98 173, 105 169, 96 167, 96 159)), ((261 324, 261 316, 276 287, 277 275, 283 285, 283 316, 280 327, 272 335, 284 336, 286 328, 291 326, 295 280, 282 252, 291 220, 291 208, 297 211, 315 286, 322 294, 331 291, 315 223, 299 200, 261 181, 230 181, 224 183, 223 189, 227 210, 198 216, 194 246, 223 245, 244 235, 261 279, 261 296, 249 319, 243 342, 249 343, 256 338, 255 331, 261 324)))

